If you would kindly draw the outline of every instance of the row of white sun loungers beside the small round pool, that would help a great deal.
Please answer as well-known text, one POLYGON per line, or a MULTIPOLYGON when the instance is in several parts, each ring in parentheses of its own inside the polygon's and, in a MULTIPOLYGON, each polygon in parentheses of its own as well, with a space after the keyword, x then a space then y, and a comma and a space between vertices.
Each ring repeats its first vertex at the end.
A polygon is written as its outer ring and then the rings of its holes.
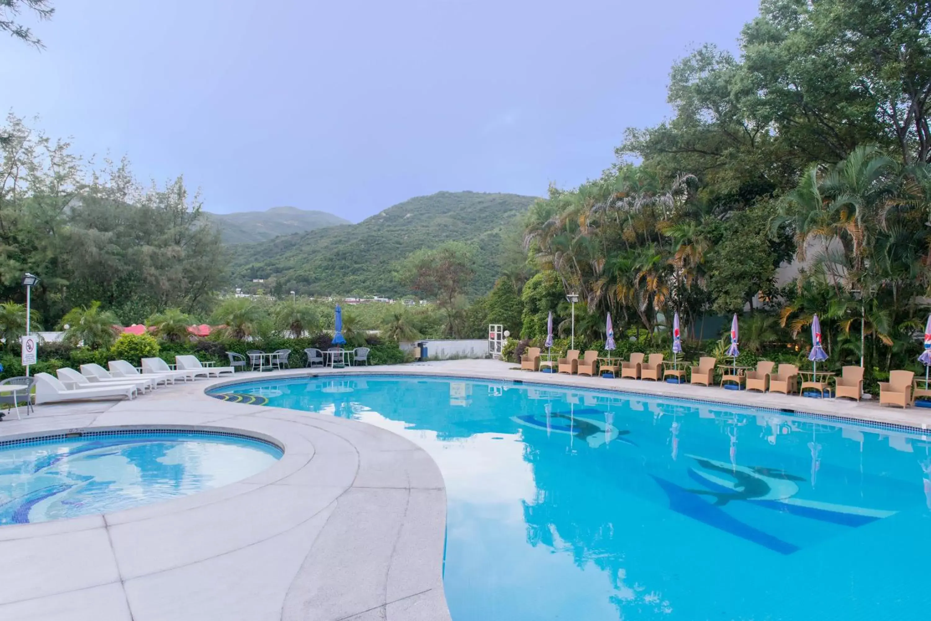
POLYGON ((205 367, 195 356, 176 356, 176 364, 162 358, 142 358, 142 372, 126 360, 111 360, 109 371, 99 364, 82 364, 81 371, 59 369, 58 377, 35 374, 35 404, 84 398, 136 398, 158 385, 193 382, 198 377, 232 374, 233 367, 205 367), (172 368, 174 367, 174 368, 172 368))

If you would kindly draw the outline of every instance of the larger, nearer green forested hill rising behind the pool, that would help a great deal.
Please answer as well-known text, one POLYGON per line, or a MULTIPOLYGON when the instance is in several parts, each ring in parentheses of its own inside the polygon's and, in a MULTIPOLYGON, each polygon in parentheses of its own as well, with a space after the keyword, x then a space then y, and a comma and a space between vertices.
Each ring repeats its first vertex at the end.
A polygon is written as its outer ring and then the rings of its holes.
POLYGON ((395 263, 414 250, 463 241, 477 249, 472 290, 484 293, 499 275, 503 233, 534 200, 477 192, 417 196, 358 224, 237 246, 234 282, 250 288, 252 279, 263 278, 263 288, 274 292, 399 297, 409 291, 395 280, 395 263))

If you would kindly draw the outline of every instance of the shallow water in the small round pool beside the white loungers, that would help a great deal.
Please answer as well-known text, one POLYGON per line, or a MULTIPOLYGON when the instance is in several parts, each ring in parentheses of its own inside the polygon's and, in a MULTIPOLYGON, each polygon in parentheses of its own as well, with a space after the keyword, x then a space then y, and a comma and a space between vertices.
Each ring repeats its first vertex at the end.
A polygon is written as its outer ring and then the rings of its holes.
POLYGON ((196 432, 11 444, 0 447, 0 524, 148 505, 245 479, 280 457, 259 440, 196 432))

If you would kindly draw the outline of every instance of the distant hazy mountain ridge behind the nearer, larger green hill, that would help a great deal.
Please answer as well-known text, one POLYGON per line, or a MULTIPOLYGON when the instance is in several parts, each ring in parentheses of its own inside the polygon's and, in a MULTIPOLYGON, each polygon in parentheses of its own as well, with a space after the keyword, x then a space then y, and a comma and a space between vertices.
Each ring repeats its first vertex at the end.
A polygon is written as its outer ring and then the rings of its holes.
POLYGON ((209 213, 209 220, 220 228, 225 244, 267 241, 279 235, 304 233, 325 226, 349 224, 348 220, 326 211, 273 207, 265 211, 209 213))

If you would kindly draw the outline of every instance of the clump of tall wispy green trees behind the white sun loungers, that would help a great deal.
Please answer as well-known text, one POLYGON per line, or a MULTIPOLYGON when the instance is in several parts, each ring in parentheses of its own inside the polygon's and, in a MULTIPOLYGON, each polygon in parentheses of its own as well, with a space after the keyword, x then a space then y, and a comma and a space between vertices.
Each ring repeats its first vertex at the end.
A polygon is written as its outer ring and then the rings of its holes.
POLYGON ((7 115, 0 134, 0 300, 52 322, 94 300, 127 323, 178 307, 206 313, 227 276, 218 233, 181 177, 142 187, 128 161, 86 169, 68 142, 7 115))

